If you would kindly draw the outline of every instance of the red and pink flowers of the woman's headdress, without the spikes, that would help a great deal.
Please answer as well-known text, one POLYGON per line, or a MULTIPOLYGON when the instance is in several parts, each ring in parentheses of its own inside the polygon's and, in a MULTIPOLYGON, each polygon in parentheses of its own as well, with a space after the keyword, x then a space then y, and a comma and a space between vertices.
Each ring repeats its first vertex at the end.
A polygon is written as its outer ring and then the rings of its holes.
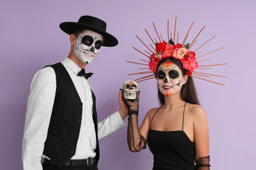
POLYGON ((156 52, 149 57, 149 69, 154 72, 156 77, 156 68, 159 62, 166 57, 174 57, 181 61, 182 66, 186 69, 188 76, 192 75, 194 69, 198 67, 196 62, 196 54, 188 50, 189 43, 182 46, 181 44, 174 45, 171 39, 168 43, 163 41, 156 44, 156 52))

